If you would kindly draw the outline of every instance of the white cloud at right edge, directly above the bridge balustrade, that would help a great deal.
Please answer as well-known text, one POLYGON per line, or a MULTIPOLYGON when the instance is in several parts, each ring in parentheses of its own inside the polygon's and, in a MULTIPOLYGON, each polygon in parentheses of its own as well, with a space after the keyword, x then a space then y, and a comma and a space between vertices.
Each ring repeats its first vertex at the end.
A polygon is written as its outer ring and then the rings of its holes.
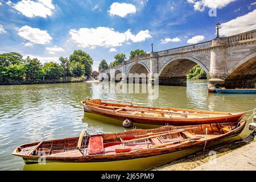
POLYGON ((221 36, 230 36, 240 34, 242 32, 256 29, 256 10, 250 13, 238 16, 236 19, 232 19, 229 22, 222 23, 220 28, 221 36))

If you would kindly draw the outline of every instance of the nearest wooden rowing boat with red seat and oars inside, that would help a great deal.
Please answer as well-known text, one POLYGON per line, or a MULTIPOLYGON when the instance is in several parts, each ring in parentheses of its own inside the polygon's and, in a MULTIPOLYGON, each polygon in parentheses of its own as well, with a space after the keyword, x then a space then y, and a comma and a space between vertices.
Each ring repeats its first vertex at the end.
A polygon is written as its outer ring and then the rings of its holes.
POLYGON ((14 150, 13 155, 22 157, 27 164, 40 163, 44 158, 46 163, 86 163, 95 167, 102 162, 104 165, 106 162, 127 162, 205 147, 240 134, 245 125, 246 121, 162 126, 158 129, 96 135, 89 135, 83 130, 79 137, 23 144, 14 150))

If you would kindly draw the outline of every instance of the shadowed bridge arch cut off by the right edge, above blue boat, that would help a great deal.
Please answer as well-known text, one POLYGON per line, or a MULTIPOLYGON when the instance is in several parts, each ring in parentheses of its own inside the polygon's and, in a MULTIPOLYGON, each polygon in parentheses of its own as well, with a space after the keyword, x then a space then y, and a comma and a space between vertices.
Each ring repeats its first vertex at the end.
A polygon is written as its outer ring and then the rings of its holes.
POLYGON ((254 88, 256 79, 256 51, 239 61, 229 71, 224 86, 226 88, 254 88))

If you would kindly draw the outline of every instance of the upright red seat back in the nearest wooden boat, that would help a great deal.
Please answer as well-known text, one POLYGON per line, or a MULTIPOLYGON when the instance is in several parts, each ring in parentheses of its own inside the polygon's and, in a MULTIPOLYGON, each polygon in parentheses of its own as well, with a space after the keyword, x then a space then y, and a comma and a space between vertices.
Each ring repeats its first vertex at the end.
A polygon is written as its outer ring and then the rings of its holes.
POLYGON ((104 152, 103 138, 102 137, 91 137, 89 140, 89 155, 102 154, 104 152))

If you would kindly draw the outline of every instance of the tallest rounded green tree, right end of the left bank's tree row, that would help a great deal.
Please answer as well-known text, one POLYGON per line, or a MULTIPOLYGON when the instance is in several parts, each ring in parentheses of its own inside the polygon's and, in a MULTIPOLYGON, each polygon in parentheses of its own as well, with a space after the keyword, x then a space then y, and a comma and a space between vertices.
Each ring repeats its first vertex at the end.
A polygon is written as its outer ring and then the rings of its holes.
POLYGON ((85 69, 85 75, 90 76, 92 73, 92 64, 93 64, 93 59, 90 57, 90 55, 81 49, 75 50, 72 55, 69 56, 69 61, 76 61, 84 64, 84 69, 85 69))

